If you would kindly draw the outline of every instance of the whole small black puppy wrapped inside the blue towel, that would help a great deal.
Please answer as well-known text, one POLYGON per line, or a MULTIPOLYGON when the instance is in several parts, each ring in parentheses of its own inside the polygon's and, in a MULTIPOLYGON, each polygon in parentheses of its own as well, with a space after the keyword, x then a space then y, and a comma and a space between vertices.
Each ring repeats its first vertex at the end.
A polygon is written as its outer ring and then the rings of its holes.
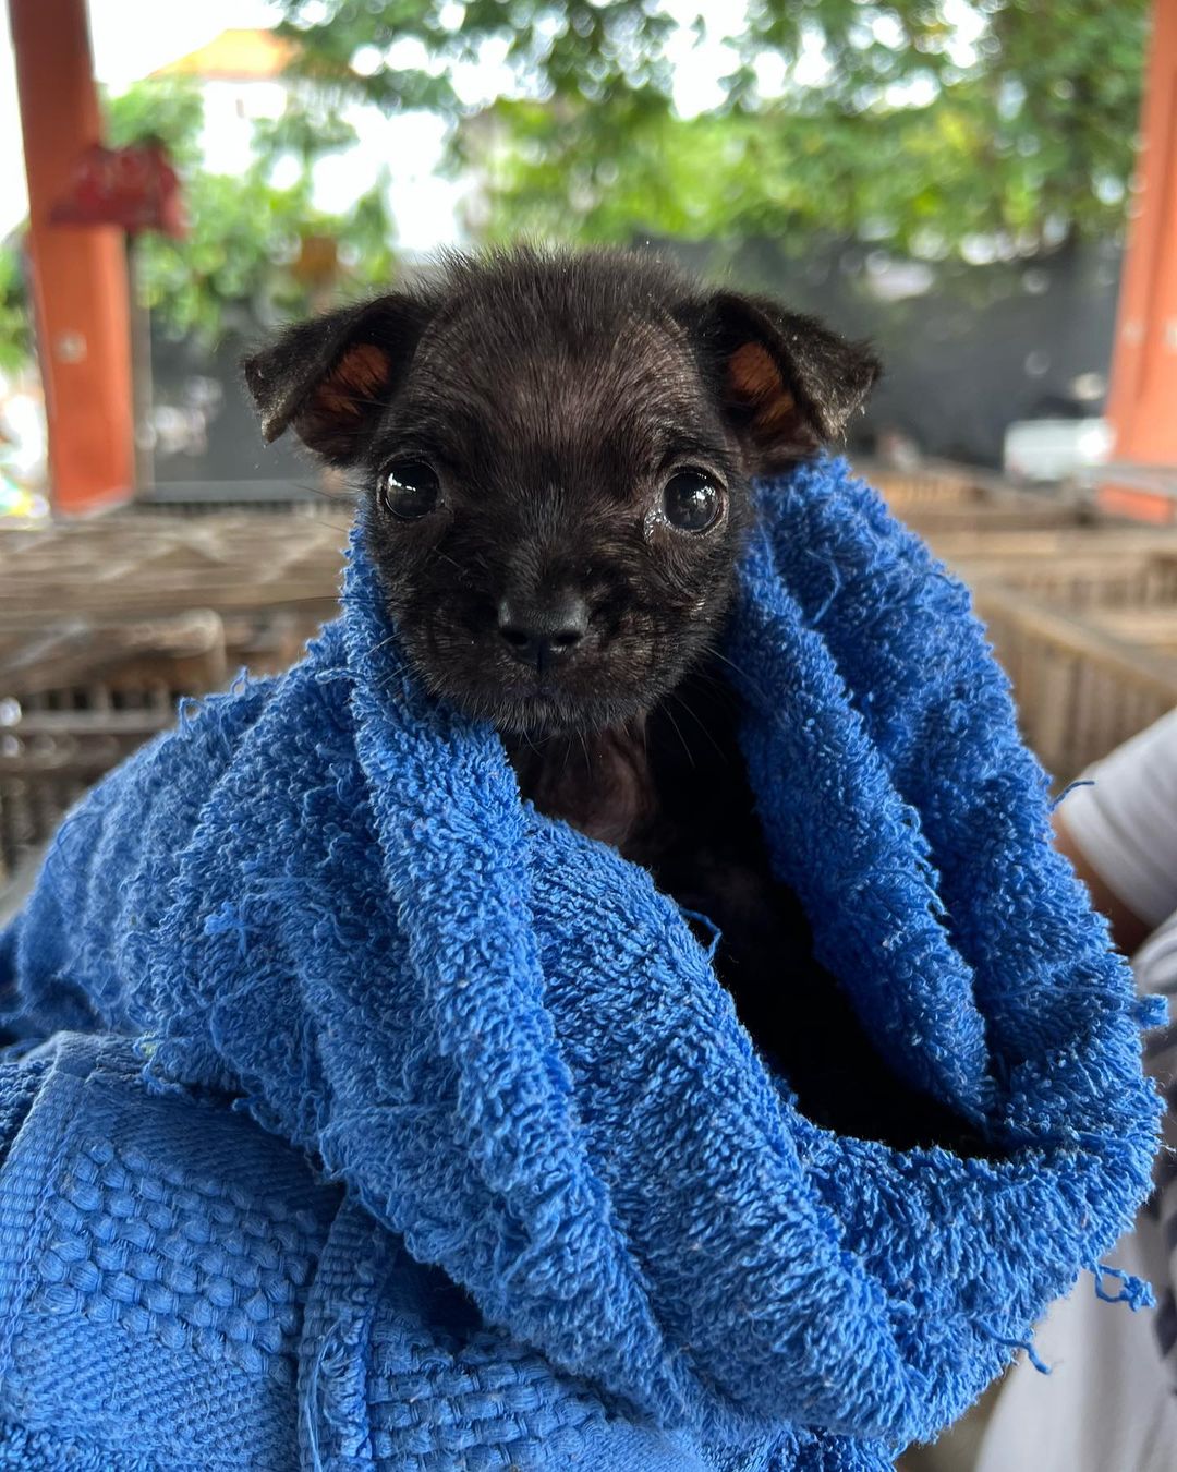
POLYGON ((375 502, 419 677, 494 723, 541 811, 719 926, 719 976, 803 1107, 895 1144, 950 1133, 809 957, 719 648, 752 478, 842 433, 871 350, 650 256, 515 250, 450 256, 244 368, 266 439, 293 427, 375 502))

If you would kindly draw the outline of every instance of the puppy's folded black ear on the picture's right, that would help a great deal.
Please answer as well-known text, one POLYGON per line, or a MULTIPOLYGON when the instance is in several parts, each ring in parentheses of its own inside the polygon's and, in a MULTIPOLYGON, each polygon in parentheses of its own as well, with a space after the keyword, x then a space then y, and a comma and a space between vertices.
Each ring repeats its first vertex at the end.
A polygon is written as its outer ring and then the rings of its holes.
POLYGON ((718 291, 702 339, 724 412, 765 471, 839 439, 881 371, 868 343, 768 297, 718 291))

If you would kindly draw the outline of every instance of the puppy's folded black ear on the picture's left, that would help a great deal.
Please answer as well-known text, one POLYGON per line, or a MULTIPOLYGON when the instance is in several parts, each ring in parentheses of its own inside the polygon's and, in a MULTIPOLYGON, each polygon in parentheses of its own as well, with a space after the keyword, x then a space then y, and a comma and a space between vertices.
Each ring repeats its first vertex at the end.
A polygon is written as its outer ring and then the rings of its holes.
POLYGON ((334 465, 363 453, 434 306, 394 291, 288 327, 241 368, 266 443, 291 427, 334 465))

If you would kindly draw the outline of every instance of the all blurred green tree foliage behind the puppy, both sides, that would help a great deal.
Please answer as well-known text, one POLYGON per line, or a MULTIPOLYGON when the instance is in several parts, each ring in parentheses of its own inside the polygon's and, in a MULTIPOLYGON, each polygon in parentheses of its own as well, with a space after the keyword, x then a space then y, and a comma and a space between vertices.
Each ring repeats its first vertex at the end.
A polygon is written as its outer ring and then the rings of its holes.
MULTIPOLYGON (((733 0, 724 38, 687 26, 722 74, 702 99, 675 94, 684 35, 662 0, 281 3, 294 85, 240 174, 202 166, 199 91, 107 99, 110 141, 159 137, 182 177, 188 238, 135 246, 143 299, 181 336, 306 311, 322 294, 296 269, 307 237, 343 243, 340 290, 390 278, 385 180, 347 219, 312 203, 358 97, 453 119, 452 166, 480 181, 490 238, 772 237, 800 253, 858 237, 943 259, 1031 255, 1126 216, 1148 0, 733 0), (511 82, 477 99, 459 78, 488 56, 511 82)), ((26 350, 9 244, 0 367, 26 350)))

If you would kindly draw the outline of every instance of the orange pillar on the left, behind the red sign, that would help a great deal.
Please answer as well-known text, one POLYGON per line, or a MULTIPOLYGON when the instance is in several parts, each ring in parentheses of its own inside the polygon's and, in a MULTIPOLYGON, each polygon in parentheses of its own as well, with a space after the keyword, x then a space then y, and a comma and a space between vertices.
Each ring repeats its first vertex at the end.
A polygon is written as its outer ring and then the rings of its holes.
POLYGON ((49 221, 102 135, 85 0, 10 0, 10 12, 50 495, 57 511, 87 512, 134 490, 127 256, 115 227, 49 221))

